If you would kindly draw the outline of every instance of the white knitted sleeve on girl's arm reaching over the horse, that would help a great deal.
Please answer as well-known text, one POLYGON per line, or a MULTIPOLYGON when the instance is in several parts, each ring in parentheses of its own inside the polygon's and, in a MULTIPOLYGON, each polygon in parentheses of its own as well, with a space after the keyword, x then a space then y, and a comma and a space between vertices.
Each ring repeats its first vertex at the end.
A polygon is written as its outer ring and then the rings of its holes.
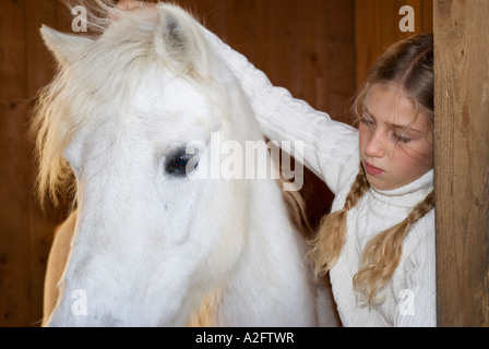
POLYGON ((287 89, 273 86, 246 57, 207 29, 203 32, 211 49, 231 70, 249 96, 263 134, 278 144, 290 141, 296 160, 303 163, 336 194, 351 172, 358 172, 358 131, 295 99, 287 89), (298 144, 301 152, 298 152, 298 144))

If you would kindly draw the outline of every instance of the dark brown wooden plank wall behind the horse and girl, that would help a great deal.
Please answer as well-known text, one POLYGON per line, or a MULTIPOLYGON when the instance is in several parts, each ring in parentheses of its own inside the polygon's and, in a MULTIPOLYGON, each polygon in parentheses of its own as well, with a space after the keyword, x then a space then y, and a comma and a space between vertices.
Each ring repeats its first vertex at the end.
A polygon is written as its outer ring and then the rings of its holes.
MULTIPOLYGON (((333 118, 385 46, 413 33, 398 29, 410 4, 416 31, 430 31, 431 0, 180 0, 270 80, 333 118)), ((53 227, 63 210, 41 213, 33 193, 35 159, 27 135, 36 91, 53 73, 41 23, 68 32, 59 0, 0 1, 0 326, 36 326, 53 227)), ((303 194, 317 222, 332 200, 307 173, 303 194)))

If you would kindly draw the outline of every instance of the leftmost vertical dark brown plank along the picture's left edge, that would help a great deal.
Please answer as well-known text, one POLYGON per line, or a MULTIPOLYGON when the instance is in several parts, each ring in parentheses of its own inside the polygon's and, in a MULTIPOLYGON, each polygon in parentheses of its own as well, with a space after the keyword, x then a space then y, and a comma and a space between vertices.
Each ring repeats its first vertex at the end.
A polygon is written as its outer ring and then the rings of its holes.
POLYGON ((0 3, 0 324, 29 322, 24 1, 0 3))

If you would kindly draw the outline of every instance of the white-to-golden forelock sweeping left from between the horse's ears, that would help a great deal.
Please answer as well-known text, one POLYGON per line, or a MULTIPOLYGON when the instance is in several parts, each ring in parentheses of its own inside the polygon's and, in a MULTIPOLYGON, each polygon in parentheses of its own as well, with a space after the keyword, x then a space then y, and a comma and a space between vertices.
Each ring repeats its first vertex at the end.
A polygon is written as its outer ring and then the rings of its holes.
MULTIPOLYGON (((121 117, 139 83, 156 63, 171 70, 154 49, 158 19, 123 15, 109 23, 90 49, 69 67, 60 67, 52 82, 40 91, 33 129, 39 158, 37 190, 40 202, 73 186, 72 170, 63 157, 65 147, 87 123, 107 116, 121 117)), ((175 23, 172 24, 175 25, 175 23)), ((199 81, 191 71, 174 71, 199 81)))

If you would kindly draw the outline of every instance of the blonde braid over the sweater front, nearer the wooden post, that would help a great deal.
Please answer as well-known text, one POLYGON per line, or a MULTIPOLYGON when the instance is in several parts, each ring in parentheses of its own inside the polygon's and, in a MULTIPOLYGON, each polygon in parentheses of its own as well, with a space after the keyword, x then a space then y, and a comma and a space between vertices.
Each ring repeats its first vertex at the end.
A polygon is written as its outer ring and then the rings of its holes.
POLYGON ((406 219, 367 242, 362 255, 363 266, 354 277, 354 286, 361 302, 375 301, 375 293, 389 284, 401 262, 403 242, 412 226, 433 207, 434 191, 413 208, 406 219))

